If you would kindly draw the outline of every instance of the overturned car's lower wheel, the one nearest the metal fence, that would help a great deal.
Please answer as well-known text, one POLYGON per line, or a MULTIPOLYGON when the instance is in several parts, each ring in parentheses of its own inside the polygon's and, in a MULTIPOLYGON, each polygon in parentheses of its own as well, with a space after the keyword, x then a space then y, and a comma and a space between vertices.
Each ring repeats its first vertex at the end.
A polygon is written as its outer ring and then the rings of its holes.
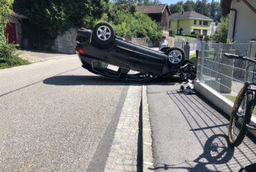
POLYGON ((171 47, 165 54, 168 56, 167 63, 170 67, 180 67, 185 62, 185 52, 179 47, 171 47))

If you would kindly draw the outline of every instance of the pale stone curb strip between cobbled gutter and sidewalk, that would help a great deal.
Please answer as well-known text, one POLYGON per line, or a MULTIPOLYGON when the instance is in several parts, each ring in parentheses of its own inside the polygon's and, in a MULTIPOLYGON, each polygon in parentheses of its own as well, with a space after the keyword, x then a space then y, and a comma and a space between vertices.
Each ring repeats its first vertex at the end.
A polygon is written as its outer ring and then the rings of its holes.
POLYGON ((142 93, 142 118, 143 118, 143 171, 154 168, 152 153, 152 132, 149 122, 149 108, 147 104, 147 86, 143 85, 142 93))

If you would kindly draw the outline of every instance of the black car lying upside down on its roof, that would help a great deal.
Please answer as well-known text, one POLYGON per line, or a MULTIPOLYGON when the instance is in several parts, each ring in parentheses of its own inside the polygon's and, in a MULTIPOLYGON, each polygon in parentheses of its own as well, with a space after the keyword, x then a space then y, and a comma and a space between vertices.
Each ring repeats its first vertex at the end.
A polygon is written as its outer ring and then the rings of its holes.
POLYGON ((159 76, 194 79, 196 67, 179 47, 156 52, 116 36, 109 23, 77 31, 75 50, 82 67, 116 80, 141 83, 159 76))

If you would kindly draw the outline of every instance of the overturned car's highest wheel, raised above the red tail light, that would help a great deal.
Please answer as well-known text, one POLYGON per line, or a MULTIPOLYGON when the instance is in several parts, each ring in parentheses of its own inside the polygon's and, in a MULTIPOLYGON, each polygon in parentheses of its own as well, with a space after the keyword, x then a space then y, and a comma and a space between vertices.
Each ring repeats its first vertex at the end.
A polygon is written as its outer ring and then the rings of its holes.
POLYGON ((113 42, 115 36, 113 27, 109 23, 101 22, 95 25, 92 39, 94 44, 107 45, 113 42))

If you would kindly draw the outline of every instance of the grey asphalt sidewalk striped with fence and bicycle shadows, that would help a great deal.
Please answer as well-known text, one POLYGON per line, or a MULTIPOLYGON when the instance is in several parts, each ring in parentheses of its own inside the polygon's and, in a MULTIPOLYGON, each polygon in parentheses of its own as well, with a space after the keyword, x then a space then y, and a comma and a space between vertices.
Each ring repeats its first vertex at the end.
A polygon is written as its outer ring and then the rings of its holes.
POLYGON ((200 95, 177 93, 180 85, 147 83, 154 158, 147 171, 238 171, 255 163, 255 141, 230 147, 225 115, 200 95))

